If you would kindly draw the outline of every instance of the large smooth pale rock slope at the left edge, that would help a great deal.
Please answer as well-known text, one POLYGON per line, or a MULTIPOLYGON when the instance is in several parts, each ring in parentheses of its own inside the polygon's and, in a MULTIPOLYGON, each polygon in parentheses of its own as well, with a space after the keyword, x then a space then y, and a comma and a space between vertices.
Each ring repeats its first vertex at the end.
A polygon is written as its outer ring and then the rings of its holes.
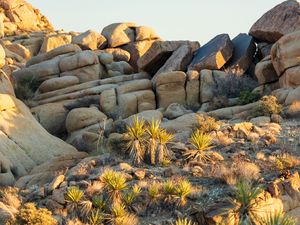
POLYGON ((0 102, 1 185, 12 185, 16 178, 49 159, 76 152, 48 134, 21 101, 0 94, 0 102))

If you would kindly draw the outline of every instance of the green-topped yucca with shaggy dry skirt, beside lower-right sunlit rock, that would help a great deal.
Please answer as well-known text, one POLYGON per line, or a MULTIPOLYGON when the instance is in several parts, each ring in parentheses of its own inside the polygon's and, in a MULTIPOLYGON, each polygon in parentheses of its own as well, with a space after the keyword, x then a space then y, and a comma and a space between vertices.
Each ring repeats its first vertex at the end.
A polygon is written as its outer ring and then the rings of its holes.
POLYGON ((261 194, 260 187, 253 186, 249 181, 240 181, 231 199, 236 206, 234 214, 239 218, 240 224, 252 224, 257 219, 258 206, 255 199, 261 194))

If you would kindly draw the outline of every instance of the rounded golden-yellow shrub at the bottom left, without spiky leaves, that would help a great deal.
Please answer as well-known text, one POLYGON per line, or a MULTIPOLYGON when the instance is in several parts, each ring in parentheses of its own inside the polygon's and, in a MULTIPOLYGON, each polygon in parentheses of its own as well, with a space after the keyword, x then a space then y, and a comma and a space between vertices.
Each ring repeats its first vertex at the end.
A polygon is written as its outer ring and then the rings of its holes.
POLYGON ((18 224, 57 225, 52 213, 46 208, 36 208, 34 203, 26 203, 18 215, 18 224))

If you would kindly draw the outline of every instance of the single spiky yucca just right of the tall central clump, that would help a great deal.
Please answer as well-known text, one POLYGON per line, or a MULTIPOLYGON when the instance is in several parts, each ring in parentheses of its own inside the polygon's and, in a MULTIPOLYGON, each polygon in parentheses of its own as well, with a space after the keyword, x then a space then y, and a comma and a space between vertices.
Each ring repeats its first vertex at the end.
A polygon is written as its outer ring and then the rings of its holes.
POLYGON ((204 162, 210 161, 211 159, 206 151, 214 147, 212 146, 212 140, 213 138, 211 135, 196 130, 189 139, 189 142, 194 149, 186 150, 184 156, 187 160, 195 159, 204 162))

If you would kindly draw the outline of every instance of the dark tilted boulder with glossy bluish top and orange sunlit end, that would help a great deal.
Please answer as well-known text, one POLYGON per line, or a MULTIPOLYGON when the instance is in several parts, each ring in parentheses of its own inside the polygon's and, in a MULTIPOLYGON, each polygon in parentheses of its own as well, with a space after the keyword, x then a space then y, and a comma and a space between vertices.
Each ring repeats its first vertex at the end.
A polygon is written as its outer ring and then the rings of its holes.
POLYGON ((220 34, 197 50, 189 70, 218 70, 231 58, 233 44, 228 34, 220 34))

